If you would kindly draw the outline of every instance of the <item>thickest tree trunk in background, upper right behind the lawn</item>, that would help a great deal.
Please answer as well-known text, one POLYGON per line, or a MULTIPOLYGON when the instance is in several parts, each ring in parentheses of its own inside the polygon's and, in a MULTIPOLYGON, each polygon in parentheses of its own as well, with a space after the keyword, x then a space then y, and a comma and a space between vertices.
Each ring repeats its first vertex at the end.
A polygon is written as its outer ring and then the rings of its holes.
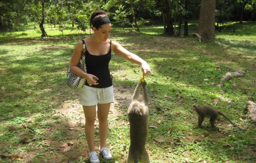
POLYGON ((216 0, 202 0, 197 33, 209 41, 214 41, 216 0))

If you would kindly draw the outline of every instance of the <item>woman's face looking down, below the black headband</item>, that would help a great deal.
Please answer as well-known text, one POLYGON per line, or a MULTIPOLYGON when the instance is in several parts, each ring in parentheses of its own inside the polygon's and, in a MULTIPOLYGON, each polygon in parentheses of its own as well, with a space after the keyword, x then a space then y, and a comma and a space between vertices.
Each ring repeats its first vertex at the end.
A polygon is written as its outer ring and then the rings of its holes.
POLYGON ((110 35, 111 24, 102 24, 99 29, 93 27, 94 34, 99 38, 99 40, 106 42, 110 35))

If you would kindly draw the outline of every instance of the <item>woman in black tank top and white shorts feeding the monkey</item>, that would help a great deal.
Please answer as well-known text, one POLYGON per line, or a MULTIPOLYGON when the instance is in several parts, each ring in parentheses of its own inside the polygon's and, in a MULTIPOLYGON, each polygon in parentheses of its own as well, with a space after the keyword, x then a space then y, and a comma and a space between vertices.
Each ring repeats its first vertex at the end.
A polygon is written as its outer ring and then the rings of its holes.
POLYGON ((94 123, 97 117, 99 120, 99 154, 104 159, 112 159, 110 151, 105 148, 108 134, 108 112, 110 103, 114 101, 112 77, 108 69, 108 63, 111 59, 111 51, 127 59, 128 61, 141 65, 143 75, 151 72, 147 62, 130 53, 119 43, 108 39, 111 31, 110 20, 106 12, 95 11, 90 18, 90 27, 94 34, 84 39, 86 45, 86 68, 87 73, 81 70, 77 65, 81 59, 82 41, 75 46, 71 57, 71 71, 78 76, 86 78, 86 83, 79 90, 80 104, 84 109, 85 135, 88 147, 90 149, 89 158, 91 163, 99 163, 97 153, 94 149, 94 123))

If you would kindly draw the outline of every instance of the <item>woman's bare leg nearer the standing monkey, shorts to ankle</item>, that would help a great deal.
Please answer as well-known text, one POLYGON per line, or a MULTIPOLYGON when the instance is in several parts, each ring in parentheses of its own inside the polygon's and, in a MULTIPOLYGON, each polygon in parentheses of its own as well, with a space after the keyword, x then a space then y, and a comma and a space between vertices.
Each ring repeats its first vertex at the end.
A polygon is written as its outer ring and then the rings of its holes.
POLYGON ((108 112, 110 109, 110 104, 97 104, 97 115, 99 119, 99 139, 100 148, 105 147, 108 135, 108 112))

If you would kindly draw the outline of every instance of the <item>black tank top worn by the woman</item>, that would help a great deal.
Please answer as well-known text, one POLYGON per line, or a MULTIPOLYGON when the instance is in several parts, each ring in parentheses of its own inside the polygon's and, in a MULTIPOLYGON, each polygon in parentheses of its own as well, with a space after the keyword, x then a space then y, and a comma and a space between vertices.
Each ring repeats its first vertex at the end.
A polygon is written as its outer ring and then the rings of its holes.
MULTIPOLYGON (((86 47, 85 47, 86 48, 86 47)), ((91 55, 86 49, 85 63, 88 74, 93 74, 99 78, 97 80, 97 85, 92 85, 94 88, 107 88, 112 86, 112 76, 108 68, 108 63, 111 59, 111 40, 110 48, 108 53, 105 55, 91 55)), ((89 86, 87 81, 85 82, 86 86, 89 86)))

